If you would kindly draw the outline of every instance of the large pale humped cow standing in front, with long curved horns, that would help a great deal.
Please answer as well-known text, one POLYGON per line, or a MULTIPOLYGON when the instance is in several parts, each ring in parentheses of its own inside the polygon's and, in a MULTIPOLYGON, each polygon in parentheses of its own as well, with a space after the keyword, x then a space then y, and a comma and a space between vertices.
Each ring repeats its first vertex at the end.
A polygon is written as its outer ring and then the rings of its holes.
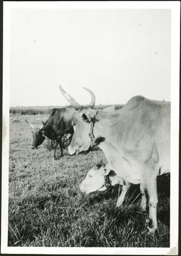
MULTIPOLYGON (((61 86, 60 90, 69 100, 61 86)), ((154 232, 157 176, 170 172, 170 102, 135 96, 116 112, 73 106, 78 111, 69 154, 87 151, 96 141, 118 176, 142 184, 149 205, 149 231, 154 232)))

